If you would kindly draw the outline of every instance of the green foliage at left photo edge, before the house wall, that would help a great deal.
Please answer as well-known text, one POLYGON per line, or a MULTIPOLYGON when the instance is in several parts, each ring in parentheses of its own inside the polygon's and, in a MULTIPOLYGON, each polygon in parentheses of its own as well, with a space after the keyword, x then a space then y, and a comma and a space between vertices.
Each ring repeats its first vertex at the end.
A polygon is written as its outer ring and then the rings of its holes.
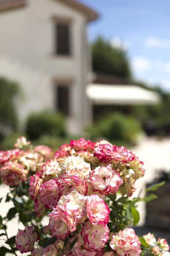
POLYGON ((20 95, 20 86, 17 82, 0 78, 0 132, 6 128, 17 128, 17 111, 15 102, 20 95))

